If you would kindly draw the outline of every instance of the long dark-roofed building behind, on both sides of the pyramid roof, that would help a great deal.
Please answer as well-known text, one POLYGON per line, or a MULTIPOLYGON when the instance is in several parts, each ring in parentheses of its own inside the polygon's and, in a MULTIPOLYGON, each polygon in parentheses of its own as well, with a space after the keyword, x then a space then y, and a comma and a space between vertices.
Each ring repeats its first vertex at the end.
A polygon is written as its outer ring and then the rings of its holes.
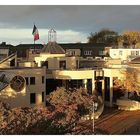
MULTIPOLYGON (((59 44, 69 56, 81 56, 81 57, 97 57, 97 56, 105 56, 104 52, 105 46, 104 44, 89 44, 89 43, 67 43, 67 44, 59 44)), ((42 44, 19 44, 17 46, 8 45, 4 43, 0 45, 1 48, 8 48, 10 53, 17 52, 17 56, 20 58, 26 58, 29 56, 29 50, 36 51, 36 53, 44 47, 42 44)))

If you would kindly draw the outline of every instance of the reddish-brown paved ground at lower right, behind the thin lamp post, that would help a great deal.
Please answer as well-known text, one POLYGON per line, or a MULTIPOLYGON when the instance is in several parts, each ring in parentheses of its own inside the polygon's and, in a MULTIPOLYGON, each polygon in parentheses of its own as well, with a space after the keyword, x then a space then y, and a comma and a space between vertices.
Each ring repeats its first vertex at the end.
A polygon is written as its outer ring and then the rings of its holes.
MULTIPOLYGON (((77 134, 93 134, 93 121, 79 123, 77 134)), ((99 134, 140 134, 140 111, 111 110, 95 121, 99 134)))

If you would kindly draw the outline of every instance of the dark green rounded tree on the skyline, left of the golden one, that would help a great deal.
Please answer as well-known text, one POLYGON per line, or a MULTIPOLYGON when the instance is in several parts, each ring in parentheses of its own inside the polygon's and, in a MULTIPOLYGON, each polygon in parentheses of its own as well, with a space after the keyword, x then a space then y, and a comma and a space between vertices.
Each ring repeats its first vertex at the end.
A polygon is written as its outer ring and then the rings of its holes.
POLYGON ((88 37, 89 43, 104 43, 107 45, 118 44, 118 33, 110 29, 102 29, 99 32, 90 33, 88 37))

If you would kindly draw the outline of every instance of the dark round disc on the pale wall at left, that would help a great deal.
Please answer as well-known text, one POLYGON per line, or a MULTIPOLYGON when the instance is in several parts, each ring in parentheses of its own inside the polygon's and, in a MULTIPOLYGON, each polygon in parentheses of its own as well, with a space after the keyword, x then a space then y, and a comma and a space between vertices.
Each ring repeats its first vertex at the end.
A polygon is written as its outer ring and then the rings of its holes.
POLYGON ((25 86, 25 79, 22 76, 14 76, 12 80, 10 81, 10 87, 16 91, 20 92, 24 89, 25 86))

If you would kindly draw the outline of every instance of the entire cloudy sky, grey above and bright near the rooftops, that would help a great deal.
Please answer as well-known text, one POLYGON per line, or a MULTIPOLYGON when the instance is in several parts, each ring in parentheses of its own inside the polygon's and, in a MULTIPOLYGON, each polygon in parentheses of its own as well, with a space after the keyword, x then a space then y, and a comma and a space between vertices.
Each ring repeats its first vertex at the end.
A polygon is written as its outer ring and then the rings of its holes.
POLYGON ((140 6, 0 6, 0 42, 33 43, 36 24, 40 40, 48 42, 48 30, 57 31, 57 42, 87 42, 90 32, 110 28, 119 33, 140 31, 140 6))

